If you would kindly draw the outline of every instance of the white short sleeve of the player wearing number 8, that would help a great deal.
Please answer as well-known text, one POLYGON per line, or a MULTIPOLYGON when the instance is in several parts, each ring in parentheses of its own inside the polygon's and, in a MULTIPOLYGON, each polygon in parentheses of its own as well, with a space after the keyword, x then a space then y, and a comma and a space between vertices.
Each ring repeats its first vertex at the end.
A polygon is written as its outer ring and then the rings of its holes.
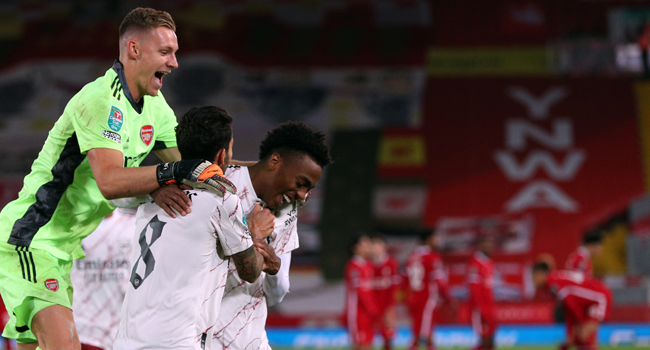
POLYGON ((251 247, 253 240, 239 198, 226 193, 223 197, 217 197, 217 201, 210 221, 217 233, 223 253, 231 256, 251 247))

